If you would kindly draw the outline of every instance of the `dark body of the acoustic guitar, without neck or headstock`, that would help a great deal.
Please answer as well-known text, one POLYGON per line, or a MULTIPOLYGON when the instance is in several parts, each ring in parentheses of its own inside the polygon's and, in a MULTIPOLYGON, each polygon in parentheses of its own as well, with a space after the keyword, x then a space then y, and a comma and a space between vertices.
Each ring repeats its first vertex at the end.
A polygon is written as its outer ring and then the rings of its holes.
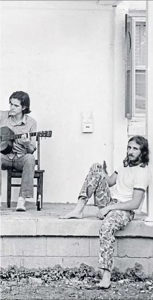
MULTIPOLYGON (((14 135, 14 131, 11 130, 9 127, 4 126, 1 127, 1 137, 3 135, 14 135)), ((1 141, 1 153, 8 154, 11 152, 13 147, 13 140, 11 141, 1 141)))

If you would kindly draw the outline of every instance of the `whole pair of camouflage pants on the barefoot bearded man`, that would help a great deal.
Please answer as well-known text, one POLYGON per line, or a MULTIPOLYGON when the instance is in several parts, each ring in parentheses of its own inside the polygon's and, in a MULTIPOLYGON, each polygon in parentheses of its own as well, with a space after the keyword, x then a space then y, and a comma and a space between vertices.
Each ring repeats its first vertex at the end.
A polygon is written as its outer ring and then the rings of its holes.
MULTIPOLYGON (((87 204, 88 199, 94 194, 94 200, 98 208, 109 204, 118 203, 117 199, 111 199, 109 185, 105 178, 103 169, 98 168, 97 172, 90 171, 82 186, 79 199, 87 204)), ((113 253, 115 237, 114 233, 121 227, 127 225, 134 217, 134 212, 129 210, 111 210, 101 220, 99 229, 100 250, 98 267, 111 271, 113 266, 113 253)))

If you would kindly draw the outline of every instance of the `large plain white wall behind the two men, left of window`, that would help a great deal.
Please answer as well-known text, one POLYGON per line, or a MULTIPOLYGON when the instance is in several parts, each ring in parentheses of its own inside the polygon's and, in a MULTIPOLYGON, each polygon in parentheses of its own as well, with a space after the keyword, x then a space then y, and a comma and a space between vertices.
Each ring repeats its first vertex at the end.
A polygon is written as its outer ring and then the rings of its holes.
MULTIPOLYGON (((41 140, 45 202, 77 202, 91 164, 112 171, 113 9, 95 2, 2 1, 1 109, 17 90, 31 98, 41 140), (82 133, 81 112, 93 112, 82 133)), ((17 200, 18 188, 12 188, 17 200)), ((6 172, 2 200, 6 201, 6 172)), ((35 200, 34 200, 35 201, 35 200)))

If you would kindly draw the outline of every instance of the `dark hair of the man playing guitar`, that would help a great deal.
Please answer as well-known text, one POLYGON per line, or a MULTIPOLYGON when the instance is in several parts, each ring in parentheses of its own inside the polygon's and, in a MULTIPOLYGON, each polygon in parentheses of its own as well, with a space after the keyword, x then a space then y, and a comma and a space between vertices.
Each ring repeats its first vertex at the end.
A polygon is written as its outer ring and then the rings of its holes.
POLYGON ((25 110, 22 111, 23 114, 30 114, 30 98, 29 95, 25 92, 22 91, 18 91, 18 92, 14 92, 10 98, 9 98, 9 102, 11 103, 11 99, 17 99, 20 101, 22 107, 25 106, 25 110))

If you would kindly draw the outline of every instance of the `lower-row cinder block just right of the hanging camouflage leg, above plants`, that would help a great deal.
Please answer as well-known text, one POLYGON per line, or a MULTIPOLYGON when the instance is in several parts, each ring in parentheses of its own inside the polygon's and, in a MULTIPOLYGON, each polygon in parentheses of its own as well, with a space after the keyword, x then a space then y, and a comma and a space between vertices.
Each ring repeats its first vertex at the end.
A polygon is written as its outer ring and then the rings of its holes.
POLYGON ((113 267, 118 268, 121 272, 125 272, 127 268, 134 268, 136 263, 142 265, 142 271, 149 277, 149 258, 127 258, 114 257, 113 267))

